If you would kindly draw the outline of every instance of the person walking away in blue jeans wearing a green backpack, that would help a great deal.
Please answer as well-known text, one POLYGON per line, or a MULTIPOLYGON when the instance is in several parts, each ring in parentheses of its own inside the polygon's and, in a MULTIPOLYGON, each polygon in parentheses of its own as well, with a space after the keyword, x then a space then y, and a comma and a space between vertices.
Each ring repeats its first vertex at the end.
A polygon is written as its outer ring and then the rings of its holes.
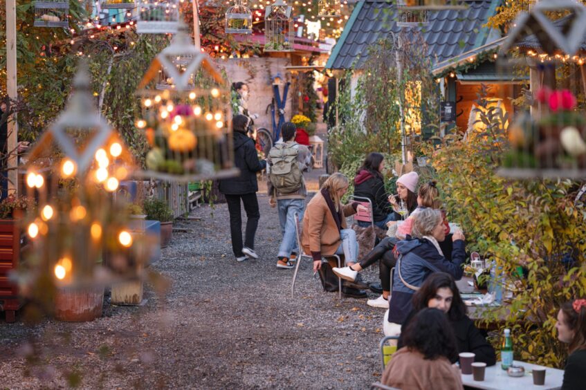
POLYGON ((295 142, 297 127, 285 122, 281 128, 283 141, 268 152, 267 192, 272 207, 277 207, 283 239, 277 254, 277 268, 293 268, 289 259, 295 259, 297 237, 295 236, 295 213, 303 218, 307 188, 303 179, 304 171, 311 171, 311 151, 295 142))

